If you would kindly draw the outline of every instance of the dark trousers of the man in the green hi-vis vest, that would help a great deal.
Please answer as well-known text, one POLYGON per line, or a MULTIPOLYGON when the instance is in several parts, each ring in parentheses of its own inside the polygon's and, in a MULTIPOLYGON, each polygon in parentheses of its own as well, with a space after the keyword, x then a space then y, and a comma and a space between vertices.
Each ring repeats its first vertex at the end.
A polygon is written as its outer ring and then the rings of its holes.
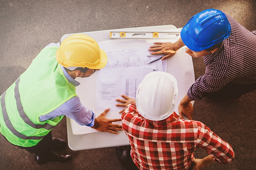
MULTIPOLYGON (((4 139, 6 139, 5 136, 3 137, 4 139)), ((15 144, 12 144, 12 145, 17 146, 15 144)), ((32 146, 32 147, 17 146, 17 147, 19 147, 20 149, 25 149, 30 153, 37 153, 38 156, 49 156, 52 153, 52 131, 50 131, 46 136, 44 136, 44 138, 40 142, 38 142, 38 144, 35 146, 32 146)))

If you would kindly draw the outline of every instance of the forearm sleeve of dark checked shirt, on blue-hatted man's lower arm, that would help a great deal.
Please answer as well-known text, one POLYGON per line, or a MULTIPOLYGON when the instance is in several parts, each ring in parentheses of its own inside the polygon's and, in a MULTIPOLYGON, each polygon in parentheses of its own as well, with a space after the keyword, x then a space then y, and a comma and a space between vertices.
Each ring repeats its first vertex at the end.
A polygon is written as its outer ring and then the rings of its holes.
POLYGON ((215 92, 227 85, 231 80, 212 77, 204 74, 192 84, 187 92, 189 99, 201 100, 204 92, 215 92))

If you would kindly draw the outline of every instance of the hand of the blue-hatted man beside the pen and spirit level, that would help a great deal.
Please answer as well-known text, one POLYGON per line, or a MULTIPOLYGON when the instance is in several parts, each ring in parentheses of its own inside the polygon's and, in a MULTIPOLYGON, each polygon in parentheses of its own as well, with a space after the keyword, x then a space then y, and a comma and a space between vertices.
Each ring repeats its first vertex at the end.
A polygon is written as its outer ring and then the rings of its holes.
POLYGON ((162 60, 172 57, 176 53, 172 42, 154 42, 154 44, 156 45, 151 45, 148 51, 154 51, 150 53, 152 55, 166 54, 162 60))

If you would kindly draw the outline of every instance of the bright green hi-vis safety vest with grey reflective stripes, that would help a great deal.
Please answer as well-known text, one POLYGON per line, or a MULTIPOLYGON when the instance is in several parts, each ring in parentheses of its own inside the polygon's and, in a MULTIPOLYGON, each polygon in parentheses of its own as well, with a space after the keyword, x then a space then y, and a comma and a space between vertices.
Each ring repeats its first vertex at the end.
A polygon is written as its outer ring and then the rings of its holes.
POLYGON ((63 116, 39 122, 45 115, 76 95, 56 61, 58 47, 44 48, 29 68, 0 96, 0 132, 12 144, 38 144, 63 116))

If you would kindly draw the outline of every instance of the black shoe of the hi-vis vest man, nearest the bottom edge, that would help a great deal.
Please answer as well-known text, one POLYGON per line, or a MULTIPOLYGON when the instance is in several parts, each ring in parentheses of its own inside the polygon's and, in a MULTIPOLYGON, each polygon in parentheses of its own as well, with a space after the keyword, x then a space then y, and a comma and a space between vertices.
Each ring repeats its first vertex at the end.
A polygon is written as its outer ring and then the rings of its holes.
POLYGON ((38 154, 35 154, 35 162, 37 164, 47 164, 47 162, 58 162, 58 163, 64 163, 69 161, 72 158, 72 155, 67 154, 57 154, 57 153, 51 153, 50 156, 38 156, 38 154))

